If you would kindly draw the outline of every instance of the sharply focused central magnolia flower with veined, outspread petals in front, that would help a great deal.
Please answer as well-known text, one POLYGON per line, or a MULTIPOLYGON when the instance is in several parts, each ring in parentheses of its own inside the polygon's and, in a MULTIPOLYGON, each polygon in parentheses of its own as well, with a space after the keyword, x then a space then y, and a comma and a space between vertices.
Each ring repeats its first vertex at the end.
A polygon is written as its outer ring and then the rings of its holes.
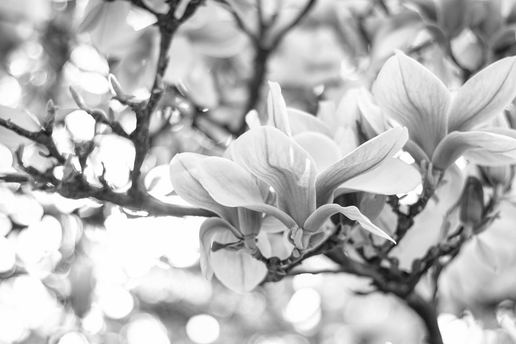
POLYGON ((312 235, 338 212, 357 221, 365 230, 392 240, 357 207, 331 202, 337 187, 377 168, 397 153, 407 139, 406 128, 393 128, 318 171, 312 156, 279 129, 256 127, 230 146, 229 154, 235 162, 219 160, 217 166, 211 166, 211 173, 201 178, 201 183, 224 206, 245 207, 276 217, 290 228, 289 237, 299 250, 309 248, 312 235), (277 207, 264 203, 246 169, 274 189, 277 207))

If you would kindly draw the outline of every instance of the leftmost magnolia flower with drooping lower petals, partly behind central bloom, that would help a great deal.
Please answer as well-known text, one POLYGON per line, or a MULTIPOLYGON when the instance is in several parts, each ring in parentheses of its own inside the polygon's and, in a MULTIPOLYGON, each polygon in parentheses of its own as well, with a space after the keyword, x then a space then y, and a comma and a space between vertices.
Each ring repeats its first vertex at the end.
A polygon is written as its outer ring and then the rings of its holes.
MULTIPOLYGON (((220 216, 208 218, 200 228, 200 263, 204 277, 211 280, 215 274, 228 288, 244 292, 258 285, 267 273, 265 264, 249 253, 254 253, 258 247, 263 255, 269 256, 271 249, 265 237, 256 242, 263 223, 262 212, 223 206, 202 185, 203 175, 217 173, 211 168, 223 164, 221 160, 228 159, 196 153, 178 154, 170 162, 170 178, 181 198, 220 216), (214 244, 225 248, 214 251, 214 244)), ((256 184, 248 173, 247 176, 252 185, 250 187, 260 194, 260 198, 263 194, 267 199, 268 186, 264 187, 259 182, 256 184)))

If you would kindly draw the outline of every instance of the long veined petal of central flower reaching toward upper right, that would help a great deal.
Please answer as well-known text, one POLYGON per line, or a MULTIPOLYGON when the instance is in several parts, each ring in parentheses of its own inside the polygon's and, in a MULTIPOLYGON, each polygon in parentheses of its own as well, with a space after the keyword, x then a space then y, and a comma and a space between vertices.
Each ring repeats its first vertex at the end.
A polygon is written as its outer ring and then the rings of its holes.
POLYGON ((407 142, 407 128, 393 128, 360 145, 356 150, 319 173, 317 206, 331 202, 333 191, 342 183, 377 168, 407 142))

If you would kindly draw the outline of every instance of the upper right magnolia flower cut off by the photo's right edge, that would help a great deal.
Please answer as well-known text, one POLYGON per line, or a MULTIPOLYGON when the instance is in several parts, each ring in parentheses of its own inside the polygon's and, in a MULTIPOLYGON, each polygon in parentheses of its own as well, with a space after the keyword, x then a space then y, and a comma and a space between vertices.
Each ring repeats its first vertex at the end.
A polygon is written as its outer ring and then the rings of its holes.
MULTIPOLYGON (((515 63, 516 57, 494 62, 452 96, 420 63, 397 54, 383 65, 373 94, 388 118, 408 128, 405 150, 416 161, 445 170, 463 155, 480 165, 507 165, 516 159, 516 131, 478 127, 516 96, 515 63)), ((366 115, 374 127, 383 125, 366 115)))

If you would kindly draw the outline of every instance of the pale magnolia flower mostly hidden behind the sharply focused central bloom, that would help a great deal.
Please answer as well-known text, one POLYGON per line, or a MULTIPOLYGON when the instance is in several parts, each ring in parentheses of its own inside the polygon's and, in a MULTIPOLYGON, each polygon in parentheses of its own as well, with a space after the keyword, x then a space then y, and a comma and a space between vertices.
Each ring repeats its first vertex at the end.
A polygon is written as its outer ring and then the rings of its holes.
MULTIPOLYGON (((269 82, 268 125, 280 129, 292 138, 315 161, 317 170, 322 171, 351 153, 358 147, 358 140, 350 127, 343 125, 340 117, 345 113, 336 113, 328 103, 322 103, 319 118, 311 114, 287 108, 280 86, 269 82)), ((258 122, 248 115, 250 127, 258 122)), ((338 187, 335 196, 349 191, 359 190, 376 194, 406 193, 414 190, 421 183, 420 173, 408 163, 397 158, 386 158, 378 166, 365 173, 348 179, 338 187)))

